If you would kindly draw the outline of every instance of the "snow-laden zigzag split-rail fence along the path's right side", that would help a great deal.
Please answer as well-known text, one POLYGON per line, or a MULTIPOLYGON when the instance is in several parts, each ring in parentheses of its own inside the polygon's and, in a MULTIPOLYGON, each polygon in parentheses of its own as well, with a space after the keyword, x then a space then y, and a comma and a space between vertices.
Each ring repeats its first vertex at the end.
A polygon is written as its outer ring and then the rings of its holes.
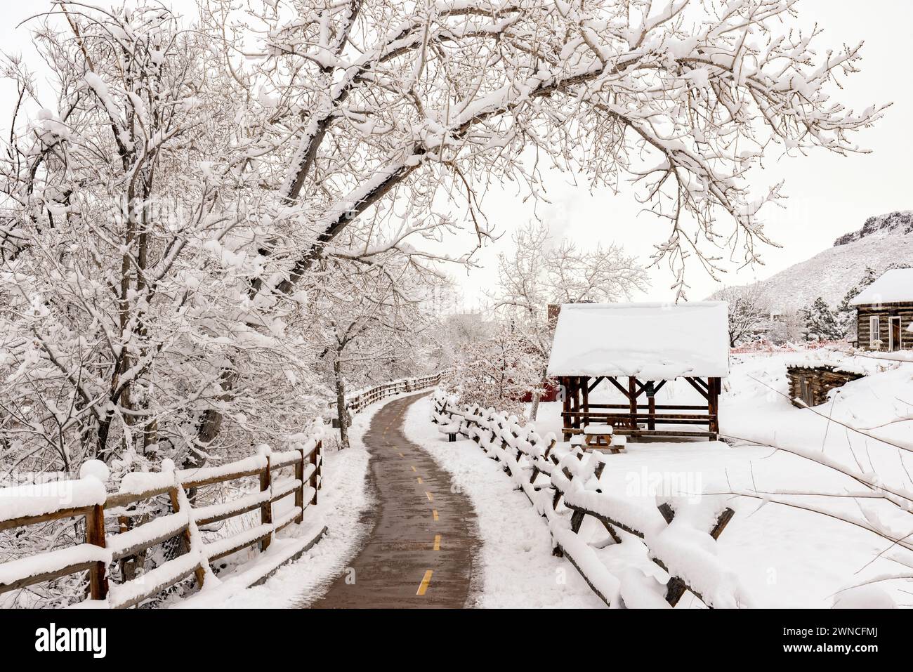
POLYGON ((609 606, 674 607, 686 591, 708 607, 748 606, 738 577, 716 554, 716 540, 733 516, 719 497, 641 498, 603 491, 600 478, 612 456, 558 443, 520 426, 515 415, 477 406, 458 407, 438 391, 432 422, 442 434, 461 434, 501 462, 551 531, 555 555, 566 557, 609 606), (597 520, 609 537, 593 543, 582 535, 584 519, 597 520), (598 553, 624 544, 610 571, 598 553), (630 552, 626 552, 630 551, 630 552), (644 571, 650 562, 668 576, 644 571))

